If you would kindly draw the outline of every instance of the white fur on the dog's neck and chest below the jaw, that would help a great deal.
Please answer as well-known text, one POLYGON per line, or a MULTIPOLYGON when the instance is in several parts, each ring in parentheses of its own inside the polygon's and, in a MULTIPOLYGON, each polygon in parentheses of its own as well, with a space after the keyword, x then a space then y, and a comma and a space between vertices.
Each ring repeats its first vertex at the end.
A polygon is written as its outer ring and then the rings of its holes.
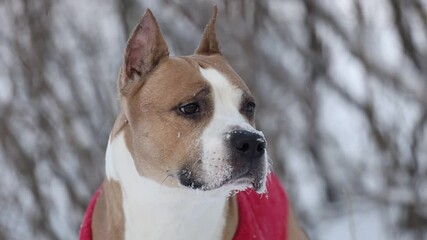
POLYGON ((120 184, 125 239, 222 238, 229 194, 167 187, 140 176, 123 131, 109 141, 106 173, 120 184))

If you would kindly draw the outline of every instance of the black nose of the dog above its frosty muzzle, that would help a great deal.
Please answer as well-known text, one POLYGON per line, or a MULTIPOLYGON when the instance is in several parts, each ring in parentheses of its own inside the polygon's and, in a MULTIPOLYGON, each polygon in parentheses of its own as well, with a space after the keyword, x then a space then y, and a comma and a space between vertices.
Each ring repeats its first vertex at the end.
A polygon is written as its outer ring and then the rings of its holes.
POLYGON ((265 152, 263 136, 249 131, 233 131, 230 133, 232 150, 247 159, 260 158, 265 152))

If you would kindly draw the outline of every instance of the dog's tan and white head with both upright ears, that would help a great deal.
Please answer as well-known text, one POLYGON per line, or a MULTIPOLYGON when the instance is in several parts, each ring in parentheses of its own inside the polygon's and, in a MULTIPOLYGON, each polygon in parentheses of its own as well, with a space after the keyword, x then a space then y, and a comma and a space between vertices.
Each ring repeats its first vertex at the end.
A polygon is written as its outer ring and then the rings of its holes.
POLYGON ((130 130, 127 147, 142 176, 192 189, 265 190, 266 141, 255 100, 220 54, 210 20, 196 54, 169 57, 150 11, 129 39, 119 77, 130 130))

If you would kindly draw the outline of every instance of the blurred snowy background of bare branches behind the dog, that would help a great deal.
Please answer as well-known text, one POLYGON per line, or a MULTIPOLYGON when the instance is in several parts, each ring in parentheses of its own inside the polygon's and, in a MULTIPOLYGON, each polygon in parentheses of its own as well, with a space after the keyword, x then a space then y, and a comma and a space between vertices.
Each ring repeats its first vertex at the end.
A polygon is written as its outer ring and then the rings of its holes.
POLYGON ((427 1, 0 1, 0 239, 76 239, 146 8, 189 55, 218 4, 311 239, 427 239, 427 1))

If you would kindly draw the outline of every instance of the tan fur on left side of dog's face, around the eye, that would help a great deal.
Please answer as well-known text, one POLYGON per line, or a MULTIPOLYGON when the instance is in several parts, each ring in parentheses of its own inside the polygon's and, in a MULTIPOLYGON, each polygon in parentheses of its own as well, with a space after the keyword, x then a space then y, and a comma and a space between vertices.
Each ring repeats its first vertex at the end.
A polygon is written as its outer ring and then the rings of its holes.
MULTIPOLYGON (((194 140, 212 117, 209 93, 210 87, 196 66, 181 58, 168 58, 135 95, 122 97, 131 129, 129 147, 140 175, 162 182, 184 165, 199 160, 200 146, 194 140), (180 105, 193 101, 205 108, 205 114, 197 120, 186 119, 179 113, 180 105)), ((171 184, 176 183, 165 182, 171 184)))

